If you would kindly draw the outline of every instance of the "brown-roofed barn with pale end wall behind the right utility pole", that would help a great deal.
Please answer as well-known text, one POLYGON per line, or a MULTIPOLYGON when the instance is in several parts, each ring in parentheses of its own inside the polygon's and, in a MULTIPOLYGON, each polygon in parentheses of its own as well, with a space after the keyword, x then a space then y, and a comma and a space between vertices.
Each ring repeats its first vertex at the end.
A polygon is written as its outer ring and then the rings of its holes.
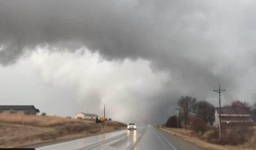
MULTIPOLYGON (((253 119, 249 107, 221 107, 222 126, 253 125, 253 119)), ((219 127, 219 108, 215 108, 214 126, 219 127)))

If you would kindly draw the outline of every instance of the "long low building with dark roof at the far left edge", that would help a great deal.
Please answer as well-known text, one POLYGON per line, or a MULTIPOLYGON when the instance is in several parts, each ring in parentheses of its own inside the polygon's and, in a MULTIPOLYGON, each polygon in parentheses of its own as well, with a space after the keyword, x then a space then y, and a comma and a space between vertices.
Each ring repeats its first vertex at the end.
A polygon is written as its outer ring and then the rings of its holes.
POLYGON ((0 105, 3 114, 37 115, 39 112, 34 105, 0 105))

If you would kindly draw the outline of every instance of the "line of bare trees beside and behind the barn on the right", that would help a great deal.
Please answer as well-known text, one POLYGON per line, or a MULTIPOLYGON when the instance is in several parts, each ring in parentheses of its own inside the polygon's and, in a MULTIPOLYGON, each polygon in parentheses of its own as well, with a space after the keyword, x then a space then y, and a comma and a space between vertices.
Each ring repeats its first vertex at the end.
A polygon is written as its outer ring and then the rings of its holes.
MULTIPOLYGON (((181 96, 177 102, 180 107, 179 111, 179 125, 177 125, 177 117, 172 116, 168 118, 166 122, 166 127, 181 127, 181 121, 187 128, 188 119, 191 114, 195 116, 195 126, 206 126, 206 124, 213 125, 214 123, 214 113, 215 107, 212 103, 207 102, 205 100, 198 101, 197 98, 190 96, 181 96)), ((248 102, 242 102, 240 100, 235 100, 229 105, 225 105, 224 107, 249 107, 251 110, 251 115, 254 120, 256 120, 256 103, 253 105, 249 105, 248 102)))

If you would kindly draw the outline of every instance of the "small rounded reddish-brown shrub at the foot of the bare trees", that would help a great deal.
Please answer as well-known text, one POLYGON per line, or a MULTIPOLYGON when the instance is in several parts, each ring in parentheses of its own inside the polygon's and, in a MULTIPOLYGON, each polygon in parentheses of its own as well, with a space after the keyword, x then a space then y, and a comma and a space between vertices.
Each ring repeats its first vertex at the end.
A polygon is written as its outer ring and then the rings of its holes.
POLYGON ((192 129, 195 133, 198 134, 200 132, 201 135, 203 135, 207 130, 207 125, 202 118, 194 118, 192 121, 192 129))

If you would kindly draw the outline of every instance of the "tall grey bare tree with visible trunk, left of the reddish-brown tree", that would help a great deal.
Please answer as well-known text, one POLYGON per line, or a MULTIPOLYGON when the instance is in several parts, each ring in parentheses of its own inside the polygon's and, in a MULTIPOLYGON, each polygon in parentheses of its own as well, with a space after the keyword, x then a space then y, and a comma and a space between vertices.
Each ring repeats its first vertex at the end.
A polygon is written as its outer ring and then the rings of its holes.
POLYGON ((178 100, 178 105, 180 107, 181 115, 185 122, 185 129, 187 124, 188 115, 190 112, 192 112, 194 104, 197 102, 196 98, 192 98, 190 96, 181 96, 178 100))

